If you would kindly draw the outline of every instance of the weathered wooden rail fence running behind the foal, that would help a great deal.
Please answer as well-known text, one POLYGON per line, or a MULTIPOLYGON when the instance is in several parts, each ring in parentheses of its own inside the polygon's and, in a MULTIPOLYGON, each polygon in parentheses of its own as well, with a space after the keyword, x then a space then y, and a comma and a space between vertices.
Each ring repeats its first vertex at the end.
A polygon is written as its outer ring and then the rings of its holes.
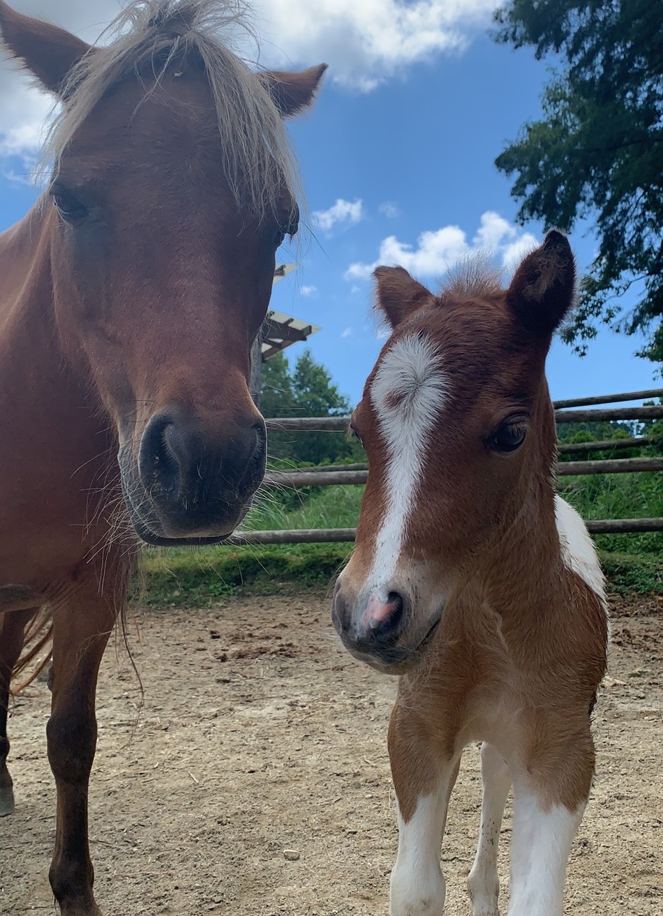
MULTIPOLYGON (((595 398, 573 398, 553 401, 555 420, 560 423, 598 422, 600 420, 661 420, 663 404, 648 407, 594 408, 597 404, 615 404, 645 398, 663 398, 663 388, 631 391, 595 398), (585 409, 578 409, 585 408, 585 409)), ((268 430, 293 432, 344 432, 349 417, 279 417, 266 420, 268 430)), ((614 449, 639 448, 652 443, 647 436, 615 439, 604 442, 572 442, 560 445, 560 454, 605 452, 614 449)), ((663 456, 654 458, 606 458, 592 461, 566 461, 558 463, 560 476, 580 474, 632 474, 641 471, 663 471, 663 456)), ((332 486, 363 485, 368 477, 365 463, 327 465, 298 468, 293 471, 268 471, 267 486, 332 486)), ((603 518, 586 522, 592 534, 623 533, 634 531, 663 531, 663 518, 603 518)), ((244 531, 234 534, 229 544, 301 544, 353 541, 356 529, 300 529, 281 531, 244 531)))

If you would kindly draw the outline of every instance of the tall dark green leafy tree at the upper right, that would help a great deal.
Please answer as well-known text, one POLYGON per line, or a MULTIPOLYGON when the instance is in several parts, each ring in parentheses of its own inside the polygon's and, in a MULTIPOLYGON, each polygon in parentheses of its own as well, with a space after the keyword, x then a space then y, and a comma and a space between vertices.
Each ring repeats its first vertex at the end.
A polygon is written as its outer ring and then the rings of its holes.
POLYGON ((595 221, 598 254, 566 339, 583 352, 606 322, 645 332, 639 355, 663 363, 663 0, 509 0, 495 21, 497 41, 561 61, 543 118, 495 164, 516 176, 521 222, 595 221))

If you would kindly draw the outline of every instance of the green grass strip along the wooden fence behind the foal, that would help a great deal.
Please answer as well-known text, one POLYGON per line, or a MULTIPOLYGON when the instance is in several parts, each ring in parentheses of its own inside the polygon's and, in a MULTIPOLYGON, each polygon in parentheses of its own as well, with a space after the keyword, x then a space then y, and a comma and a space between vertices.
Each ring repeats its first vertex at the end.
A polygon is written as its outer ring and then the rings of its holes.
MULTIPOLYGON (((245 529, 354 528, 362 486, 266 491, 245 529)), ((560 493, 583 518, 663 517, 660 474, 562 477, 560 493)), ((663 532, 599 535, 596 543, 610 588, 663 591, 663 532)), ((351 544, 283 544, 150 550, 142 563, 143 600, 152 605, 209 605, 238 590, 253 594, 332 587, 351 544)))

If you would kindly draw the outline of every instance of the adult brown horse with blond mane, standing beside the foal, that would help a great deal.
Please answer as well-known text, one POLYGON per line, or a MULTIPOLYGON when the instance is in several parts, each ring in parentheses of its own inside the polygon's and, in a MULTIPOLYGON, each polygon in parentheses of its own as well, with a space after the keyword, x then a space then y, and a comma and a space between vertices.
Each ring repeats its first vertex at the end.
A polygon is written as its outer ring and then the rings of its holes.
POLYGON ((9 55, 62 106, 48 191, 0 235, 0 813, 9 682, 48 605, 49 878, 66 916, 100 914, 94 693, 136 534, 223 539, 265 468, 248 378, 298 226, 283 119, 325 68, 256 74, 219 37, 243 23, 241 0, 136 0, 92 48, 0 0, 9 55))

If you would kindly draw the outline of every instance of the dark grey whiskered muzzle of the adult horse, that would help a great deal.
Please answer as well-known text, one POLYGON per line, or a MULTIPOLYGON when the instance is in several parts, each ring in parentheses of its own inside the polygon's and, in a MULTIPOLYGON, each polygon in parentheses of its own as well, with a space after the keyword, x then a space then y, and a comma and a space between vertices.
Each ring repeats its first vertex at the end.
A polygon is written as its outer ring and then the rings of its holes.
POLYGON ((127 459, 121 449, 125 502, 142 540, 214 543, 244 518, 263 479, 265 421, 255 413, 220 432, 200 417, 165 410, 147 422, 137 462, 127 459))

